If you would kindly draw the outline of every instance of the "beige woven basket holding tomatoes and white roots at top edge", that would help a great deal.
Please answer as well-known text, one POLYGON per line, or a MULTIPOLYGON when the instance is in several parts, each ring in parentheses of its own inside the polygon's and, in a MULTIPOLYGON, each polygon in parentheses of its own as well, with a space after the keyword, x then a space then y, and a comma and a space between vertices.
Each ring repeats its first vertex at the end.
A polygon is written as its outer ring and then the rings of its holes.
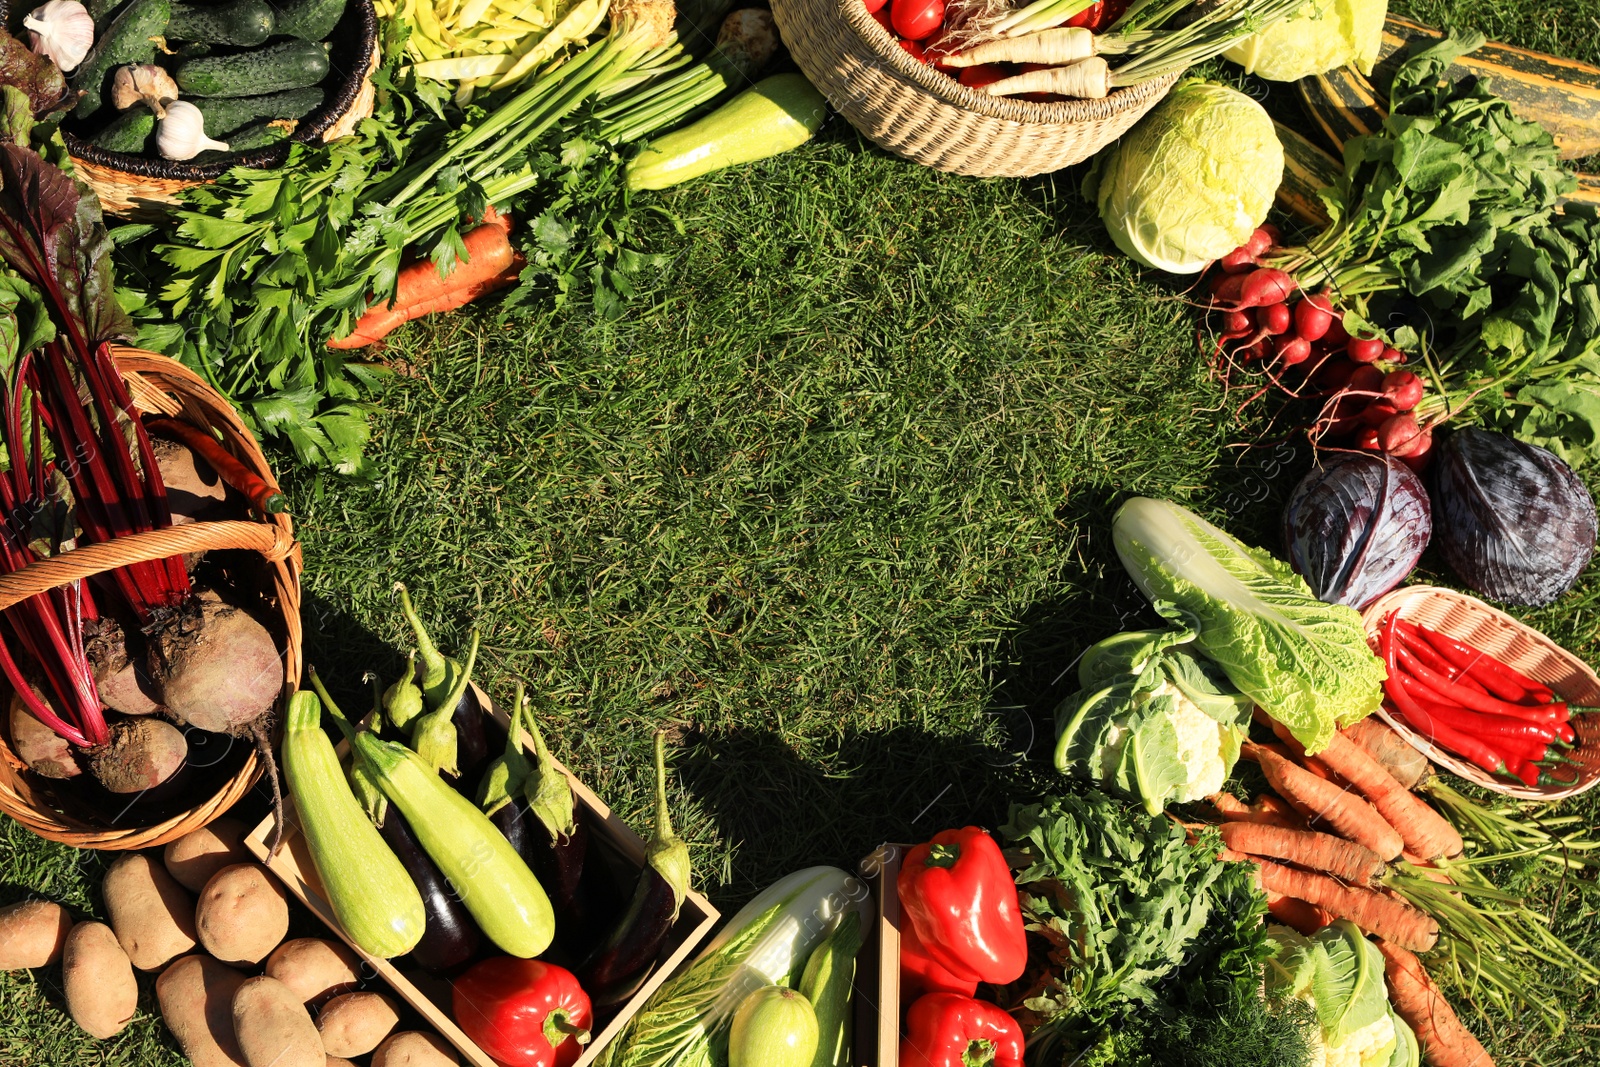
POLYGON ((1166 96, 1176 74, 1099 101, 989 96, 912 59, 861 0, 773 0, 795 62, 877 146, 955 174, 1027 178, 1082 163, 1166 96))

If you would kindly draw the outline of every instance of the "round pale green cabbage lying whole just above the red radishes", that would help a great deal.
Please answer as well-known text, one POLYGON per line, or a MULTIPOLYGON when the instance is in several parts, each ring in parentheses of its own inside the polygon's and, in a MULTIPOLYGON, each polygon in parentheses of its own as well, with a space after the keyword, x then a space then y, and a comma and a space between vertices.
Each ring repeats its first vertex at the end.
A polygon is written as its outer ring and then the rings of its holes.
POLYGON ((1283 146, 1261 104, 1195 80, 1096 157, 1085 194, 1117 248, 1197 274, 1250 238, 1282 181, 1283 146))

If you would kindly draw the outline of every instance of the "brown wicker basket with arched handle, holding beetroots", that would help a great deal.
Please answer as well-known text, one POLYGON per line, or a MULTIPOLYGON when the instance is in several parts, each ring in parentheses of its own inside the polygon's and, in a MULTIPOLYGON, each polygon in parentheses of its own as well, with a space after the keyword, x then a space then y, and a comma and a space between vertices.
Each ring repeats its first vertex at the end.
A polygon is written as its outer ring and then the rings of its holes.
MULTIPOLYGON (((160 413, 218 430, 230 453, 270 485, 277 485, 256 438, 238 421, 234 408, 205 381, 154 352, 125 347, 114 347, 112 352, 128 379, 128 390, 139 411, 160 413)), ((262 569, 267 571, 264 577, 269 581, 262 584, 262 592, 278 621, 269 629, 283 641, 283 680, 290 688, 296 686, 301 675, 301 555, 288 515, 269 515, 264 522, 210 522, 154 530, 40 560, 22 571, 0 576, 0 611, 35 593, 126 563, 224 549, 243 549, 264 557, 267 568, 262 569)), ((106 825, 104 819, 94 819, 93 814, 78 811, 75 805, 53 803, 56 798, 48 779, 26 769, 22 760, 11 750, 5 731, 0 731, 0 811, 43 838, 77 848, 125 849, 165 845, 216 819, 256 784, 261 777, 256 753, 250 745, 240 745, 240 752, 245 752, 242 765, 214 795, 154 825, 122 827, 106 825)))

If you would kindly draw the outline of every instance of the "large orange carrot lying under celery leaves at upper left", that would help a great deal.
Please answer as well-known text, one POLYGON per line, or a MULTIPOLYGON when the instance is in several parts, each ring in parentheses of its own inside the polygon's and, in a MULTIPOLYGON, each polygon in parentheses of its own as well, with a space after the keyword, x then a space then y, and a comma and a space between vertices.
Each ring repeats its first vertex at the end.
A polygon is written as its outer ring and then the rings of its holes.
POLYGON ((496 214, 494 208, 483 216, 483 224, 472 227, 461 238, 467 250, 466 259, 456 259, 456 269, 440 275, 429 259, 419 259, 400 269, 395 280, 395 296, 387 304, 373 304, 357 320, 355 328, 328 342, 330 349, 346 350, 378 344, 400 323, 421 318, 432 312, 454 310, 470 304, 485 293, 515 285, 518 264, 507 234, 510 218, 496 214))

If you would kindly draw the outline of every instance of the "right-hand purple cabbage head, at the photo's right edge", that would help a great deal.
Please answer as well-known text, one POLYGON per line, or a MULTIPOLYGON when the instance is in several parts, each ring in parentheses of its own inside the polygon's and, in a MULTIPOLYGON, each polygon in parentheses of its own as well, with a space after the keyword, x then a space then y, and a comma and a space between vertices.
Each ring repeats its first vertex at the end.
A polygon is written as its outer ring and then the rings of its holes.
POLYGON ((1595 550, 1595 501, 1555 453, 1490 430, 1434 450, 1438 547, 1472 590, 1538 608, 1578 581, 1595 550))

